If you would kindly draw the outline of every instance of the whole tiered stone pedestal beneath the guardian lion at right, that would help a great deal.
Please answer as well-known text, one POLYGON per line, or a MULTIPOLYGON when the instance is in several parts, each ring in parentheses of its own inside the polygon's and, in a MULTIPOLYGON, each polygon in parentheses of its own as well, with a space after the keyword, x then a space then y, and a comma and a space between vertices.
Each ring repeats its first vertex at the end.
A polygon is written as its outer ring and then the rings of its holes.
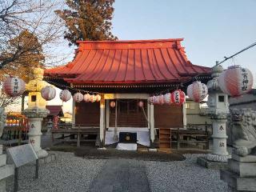
POLYGON ((256 191, 256 155, 240 157, 232 154, 228 170, 221 170, 221 179, 227 182, 229 191, 256 191))

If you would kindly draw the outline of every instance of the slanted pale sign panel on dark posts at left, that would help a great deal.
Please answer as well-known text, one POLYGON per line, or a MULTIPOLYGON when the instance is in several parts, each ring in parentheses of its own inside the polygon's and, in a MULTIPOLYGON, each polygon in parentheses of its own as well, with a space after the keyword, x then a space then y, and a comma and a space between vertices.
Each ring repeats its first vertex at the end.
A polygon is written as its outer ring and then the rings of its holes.
POLYGON ((31 144, 11 147, 7 149, 7 153, 10 154, 15 167, 24 166, 38 159, 38 155, 31 144))

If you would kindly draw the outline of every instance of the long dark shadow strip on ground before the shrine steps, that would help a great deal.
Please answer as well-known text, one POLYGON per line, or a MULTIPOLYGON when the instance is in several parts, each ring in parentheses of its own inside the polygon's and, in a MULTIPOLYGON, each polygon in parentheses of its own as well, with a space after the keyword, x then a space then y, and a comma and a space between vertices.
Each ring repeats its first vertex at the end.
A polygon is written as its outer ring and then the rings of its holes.
POLYGON ((162 152, 142 152, 142 151, 129 151, 129 150, 97 150, 91 147, 80 147, 74 151, 74 154, 83 158, 128 158, 143 161, 158 161, 158 162, 172 162, 183 161, 186 158, 182 154, 171 153, 166 154, 162 152))

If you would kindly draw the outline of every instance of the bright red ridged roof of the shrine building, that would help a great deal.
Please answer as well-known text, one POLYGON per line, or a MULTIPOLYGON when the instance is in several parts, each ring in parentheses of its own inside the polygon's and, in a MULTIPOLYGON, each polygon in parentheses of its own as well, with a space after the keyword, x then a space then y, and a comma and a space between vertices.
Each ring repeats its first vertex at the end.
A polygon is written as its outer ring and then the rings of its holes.
POLYGON ((137 41, 81 41, 73 62, 45 70, 74 84, 182 82, 210 68, 186 58, 182 38, 137 41))

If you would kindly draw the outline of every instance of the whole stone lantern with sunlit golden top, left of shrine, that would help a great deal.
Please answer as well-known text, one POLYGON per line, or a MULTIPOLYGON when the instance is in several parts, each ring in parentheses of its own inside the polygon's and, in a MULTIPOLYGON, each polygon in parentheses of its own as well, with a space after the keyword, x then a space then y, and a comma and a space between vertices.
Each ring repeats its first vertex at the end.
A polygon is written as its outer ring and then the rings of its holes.
POLYGON ((41 148, 42 119, 49 114, 49 110, 46 109, 46 100, 41 96, 41 90, 46 86, 46 82, 42 81, 42 78, 43 70, 34 68, 33 78, 26 84, 26 90, 29 92, 28 108, 22 112, 29 118, 29 142, 34 146, 38 158, 48 155, 46 150, 41 148))

